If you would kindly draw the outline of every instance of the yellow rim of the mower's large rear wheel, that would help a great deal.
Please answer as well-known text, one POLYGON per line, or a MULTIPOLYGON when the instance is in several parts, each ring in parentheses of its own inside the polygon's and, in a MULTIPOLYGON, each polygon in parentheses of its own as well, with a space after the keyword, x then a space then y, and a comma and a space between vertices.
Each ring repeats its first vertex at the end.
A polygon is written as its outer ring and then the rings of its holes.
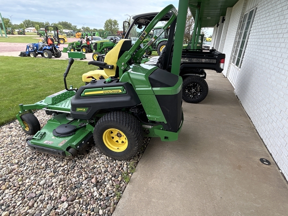
POLYGON ((128 146, 128 140, 125 134, 118 129, 109 128, 103 132, 103 142, 112 151, 121 152, 128 146))

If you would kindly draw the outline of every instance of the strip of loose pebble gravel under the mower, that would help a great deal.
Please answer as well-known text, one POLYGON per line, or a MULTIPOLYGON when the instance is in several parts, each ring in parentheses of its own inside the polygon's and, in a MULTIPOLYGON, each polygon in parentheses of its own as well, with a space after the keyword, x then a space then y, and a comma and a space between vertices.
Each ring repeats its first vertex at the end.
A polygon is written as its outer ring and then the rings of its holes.
MULTIPOLYGON (((35 112, 41 126, 50 117, 35 112)), ((137 165, 113 160, 91 146, 72 159, 30 150, 13 121, 0 127, 0 215, 111 215, 137 165)))

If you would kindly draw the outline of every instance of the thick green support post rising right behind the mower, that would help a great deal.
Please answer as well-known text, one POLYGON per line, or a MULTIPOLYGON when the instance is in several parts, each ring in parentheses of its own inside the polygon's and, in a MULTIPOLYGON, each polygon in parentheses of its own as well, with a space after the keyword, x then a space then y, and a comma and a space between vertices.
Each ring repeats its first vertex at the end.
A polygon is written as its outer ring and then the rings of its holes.
POLYGON ((179 75, 188 3, 189 3, 189 0, 179 0, 179 5, 178 5, 177 26, 176 26, 176 31, 175 31, 175 41, 174 41, 173 52, 179 53, 179 54, 173 55, 172 68, 171 68, 171 73, 174 73, 176 75, 179 75))

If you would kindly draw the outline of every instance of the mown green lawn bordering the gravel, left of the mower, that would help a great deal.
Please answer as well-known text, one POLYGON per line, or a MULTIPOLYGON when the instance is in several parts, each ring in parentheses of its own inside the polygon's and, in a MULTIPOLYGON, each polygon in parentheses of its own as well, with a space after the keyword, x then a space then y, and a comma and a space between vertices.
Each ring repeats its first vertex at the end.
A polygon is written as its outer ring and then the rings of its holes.
MULTIPOLYGON (((0 56, 0 125, 15 119, 18 104, 32 104, 64 89, 63 73, 68 60, 0 56)), ((94 70, 87 61, 75 60, 67 85, 80 87, 82 74, 94 70)))

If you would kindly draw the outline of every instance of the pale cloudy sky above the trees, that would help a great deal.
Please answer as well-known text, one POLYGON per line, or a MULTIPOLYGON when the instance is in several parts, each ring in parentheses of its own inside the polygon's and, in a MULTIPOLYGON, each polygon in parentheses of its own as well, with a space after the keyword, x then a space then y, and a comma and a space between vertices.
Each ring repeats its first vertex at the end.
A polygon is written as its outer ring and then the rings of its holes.
MULTIPOLYGON (((104 22, 111 18, 116 19, 119 28, 129 16, 157 12, 168 4, 178 7, 178 0, 1 0, 0 13, 2 17, 11 19, 13 24, 20 24, 25 19, 50 24, 58 21, 67 21, 77 28, 102 28, 104 22)), ((212 34, 208 31, 207 34, 212 34)))

